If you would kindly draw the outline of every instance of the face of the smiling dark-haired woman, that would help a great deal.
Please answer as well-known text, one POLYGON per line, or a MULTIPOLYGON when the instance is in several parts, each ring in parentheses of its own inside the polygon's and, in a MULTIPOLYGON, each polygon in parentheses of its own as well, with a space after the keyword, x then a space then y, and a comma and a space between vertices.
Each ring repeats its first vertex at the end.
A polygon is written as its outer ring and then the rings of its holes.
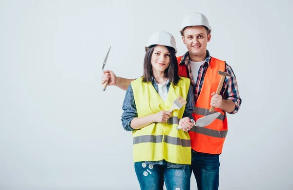
POLYGON ((151 55, 153 71, 165 71, 170 65, 170 53, 165 46, 157 45, 151 55))

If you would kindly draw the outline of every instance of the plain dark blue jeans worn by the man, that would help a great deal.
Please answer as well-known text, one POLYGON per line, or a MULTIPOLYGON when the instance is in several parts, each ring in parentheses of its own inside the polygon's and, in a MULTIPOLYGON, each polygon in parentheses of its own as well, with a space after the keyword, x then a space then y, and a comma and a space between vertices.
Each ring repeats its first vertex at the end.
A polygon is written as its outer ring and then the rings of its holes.
POLYGON ((219 155, 209 155, 192 151, 191 169, 196 179, 197 190, 218 190, 220 171, 219 155))

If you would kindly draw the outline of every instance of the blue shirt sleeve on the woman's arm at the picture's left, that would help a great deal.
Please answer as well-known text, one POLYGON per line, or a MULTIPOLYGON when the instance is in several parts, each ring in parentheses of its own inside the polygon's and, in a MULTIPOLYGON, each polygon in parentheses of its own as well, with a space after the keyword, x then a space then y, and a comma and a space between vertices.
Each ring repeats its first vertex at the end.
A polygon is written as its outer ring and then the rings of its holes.
POLYGON ((136 110, 136 105, 134 102, 134 95, 133 95, 131 84, 127 88, 122 109, 124 110, 121 117, 123 128, 126 131, 134 131, 134 129, 130 127, 130 123, 132 119, 137 118, 137 110, 136 110))

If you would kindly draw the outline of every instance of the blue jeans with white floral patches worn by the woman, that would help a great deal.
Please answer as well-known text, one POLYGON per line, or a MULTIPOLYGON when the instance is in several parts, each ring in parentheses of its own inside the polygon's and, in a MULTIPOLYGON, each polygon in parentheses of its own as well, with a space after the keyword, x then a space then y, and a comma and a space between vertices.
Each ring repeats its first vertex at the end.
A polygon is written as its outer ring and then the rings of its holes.
POLYGON ((168 168, 167 165, 134 163, 135 173, 141 190, 190 190, 190 165, 168 168))

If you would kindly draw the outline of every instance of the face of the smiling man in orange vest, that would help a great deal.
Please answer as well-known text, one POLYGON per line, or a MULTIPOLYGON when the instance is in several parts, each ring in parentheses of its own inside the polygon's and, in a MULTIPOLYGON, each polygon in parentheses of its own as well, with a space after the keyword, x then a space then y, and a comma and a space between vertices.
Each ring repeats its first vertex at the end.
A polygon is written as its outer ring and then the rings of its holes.
POLYGON ((189 53, 200 56, 207 51, 210 34, 204 26, 188 26, 183 31, 183 43, 188 48, 189 53))

